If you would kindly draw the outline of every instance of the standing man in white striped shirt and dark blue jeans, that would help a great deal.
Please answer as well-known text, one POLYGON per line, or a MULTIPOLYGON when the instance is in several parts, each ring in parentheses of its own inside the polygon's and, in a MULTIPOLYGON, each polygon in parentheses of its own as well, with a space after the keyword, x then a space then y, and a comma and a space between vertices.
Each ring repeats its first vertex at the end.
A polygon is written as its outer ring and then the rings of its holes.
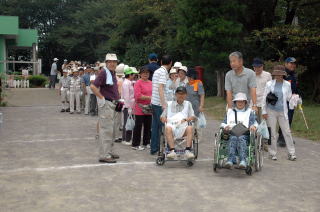
POLYGON ((160 129, 162 127, 160 116, 167 107, 165 87, 169 79, 168 70, 172 66, 172 59, 169 55, 164 55, 161 59, 161 67, 156 70, 152 77, 152 129, 151 129, 151 149, 152 155, 159 151, 160 129))

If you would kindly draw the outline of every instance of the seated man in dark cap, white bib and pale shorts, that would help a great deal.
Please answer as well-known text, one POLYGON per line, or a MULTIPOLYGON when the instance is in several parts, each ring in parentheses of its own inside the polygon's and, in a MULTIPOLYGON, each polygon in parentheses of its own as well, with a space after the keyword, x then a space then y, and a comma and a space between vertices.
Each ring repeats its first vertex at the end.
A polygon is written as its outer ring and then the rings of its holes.
POLYGON ((185 156, 187 159, 193 159, 191 152, 193 129, 189 123, 196 119, 192 105, 186 101, 187 90, 180 86, 175 91, 176 101, 169 101, 166 109, 161 114, 161 121, 165 124, 165 136, 170 148, 167 154, 168 159, 176 157, 174 140, 187 137, 185 156))

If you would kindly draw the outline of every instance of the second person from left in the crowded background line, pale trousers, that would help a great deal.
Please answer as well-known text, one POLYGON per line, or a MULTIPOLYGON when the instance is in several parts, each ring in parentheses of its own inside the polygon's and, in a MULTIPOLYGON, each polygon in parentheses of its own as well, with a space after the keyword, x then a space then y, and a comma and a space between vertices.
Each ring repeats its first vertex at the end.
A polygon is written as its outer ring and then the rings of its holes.
POLYGON ((74 101, 76 101, 77 113, 81 113, 80 109, 80 92, 81 79, 79 77, 78 69, 73 70, 73 77, 70 80, 70 114, 74 113, 74 101))

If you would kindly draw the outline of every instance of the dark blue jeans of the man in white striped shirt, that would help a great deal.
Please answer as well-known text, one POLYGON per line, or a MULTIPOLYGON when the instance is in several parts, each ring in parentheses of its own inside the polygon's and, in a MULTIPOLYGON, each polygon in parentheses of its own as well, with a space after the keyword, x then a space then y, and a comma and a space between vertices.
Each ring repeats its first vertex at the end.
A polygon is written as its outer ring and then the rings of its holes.
POLYGON ((150 153, 155 154, 159 151, 160 147, 160 130, 163 124, 160 121, 162 114, 162 107, 152 105, 152 128, 151 128, 151 149, 150 153))

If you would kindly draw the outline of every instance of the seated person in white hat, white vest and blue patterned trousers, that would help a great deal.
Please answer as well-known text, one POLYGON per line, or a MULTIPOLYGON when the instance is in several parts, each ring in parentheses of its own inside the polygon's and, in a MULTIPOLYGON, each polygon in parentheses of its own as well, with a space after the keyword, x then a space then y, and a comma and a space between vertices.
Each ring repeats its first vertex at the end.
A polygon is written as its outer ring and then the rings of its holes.
POLYGON ((250 131, 255 131, 258 123, 254 113, 248 107, 247 96, 244 93, 237 93, 233 99, 234 109, 228 109, 227 115, 221 124, 225 134, 229 136, 228 161, 226 168, 236 164, 236 151, 239 154, 239 168, 247 167, 247 142, 250 131), (250 130, 250 131, 249 131, 250 130))

